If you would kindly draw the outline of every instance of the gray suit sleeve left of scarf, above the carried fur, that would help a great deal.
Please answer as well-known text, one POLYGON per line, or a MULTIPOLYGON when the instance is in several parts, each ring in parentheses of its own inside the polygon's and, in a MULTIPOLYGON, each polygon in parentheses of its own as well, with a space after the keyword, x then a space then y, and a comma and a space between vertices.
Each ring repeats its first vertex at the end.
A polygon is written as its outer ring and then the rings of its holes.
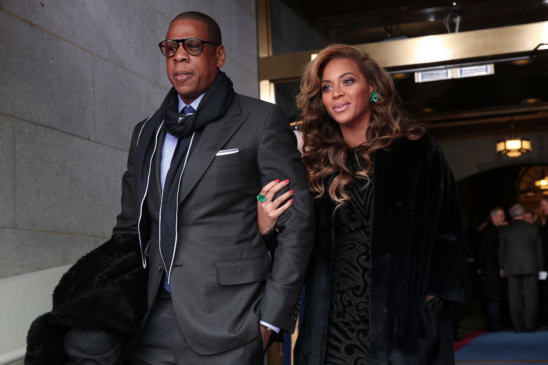
POLYGON ((118 234, 138 234, 139 205, 135 197, 133 159, 135 157, 137 137, 143 123, 144 121, 138 123, 133 130, 132 142, 129 146, 128 169, 122 176, 122 212, 116 217, 116 225, 112 229, 112 237, 118 234))

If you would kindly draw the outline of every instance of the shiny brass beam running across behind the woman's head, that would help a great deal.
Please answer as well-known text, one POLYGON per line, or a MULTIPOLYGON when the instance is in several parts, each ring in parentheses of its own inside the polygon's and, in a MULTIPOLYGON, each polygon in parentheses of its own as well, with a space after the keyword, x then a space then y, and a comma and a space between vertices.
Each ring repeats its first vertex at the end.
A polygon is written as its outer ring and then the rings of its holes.
MULTIPOLYGON (((477 31, 358 44, 379 65, 402 67, 532 51, 548 43, 548 21, 477 31)), ((318 50, 259 57, 259 79, 297 79, 318 50)))

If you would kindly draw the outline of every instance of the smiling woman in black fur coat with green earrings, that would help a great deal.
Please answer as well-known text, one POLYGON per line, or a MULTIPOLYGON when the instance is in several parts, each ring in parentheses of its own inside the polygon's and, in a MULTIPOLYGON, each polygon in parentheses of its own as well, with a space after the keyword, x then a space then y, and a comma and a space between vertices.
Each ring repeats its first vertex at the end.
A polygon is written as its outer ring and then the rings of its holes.
MULTIPOLYGON (((459 195, 438 145, 402 111, 389 74, 349 45, 306 65, 297 102, 316 241, 295 364, 454 363, 447 302, 471 298, 459 195)), ((280 206, 288 193, 271 202, 285 184, 261 192, 263 234, 290 205, 280 206)))

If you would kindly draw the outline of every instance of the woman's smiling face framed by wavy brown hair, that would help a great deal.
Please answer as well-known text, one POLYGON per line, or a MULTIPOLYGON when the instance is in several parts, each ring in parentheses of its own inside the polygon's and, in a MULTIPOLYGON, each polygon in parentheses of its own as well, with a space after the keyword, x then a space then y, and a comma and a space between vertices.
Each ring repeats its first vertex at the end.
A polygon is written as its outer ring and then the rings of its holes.
POLYGON ((329 115, 349 127, 368 121, 373 85, 352 60, 329 61, 322 73, 322 101, 329 115))

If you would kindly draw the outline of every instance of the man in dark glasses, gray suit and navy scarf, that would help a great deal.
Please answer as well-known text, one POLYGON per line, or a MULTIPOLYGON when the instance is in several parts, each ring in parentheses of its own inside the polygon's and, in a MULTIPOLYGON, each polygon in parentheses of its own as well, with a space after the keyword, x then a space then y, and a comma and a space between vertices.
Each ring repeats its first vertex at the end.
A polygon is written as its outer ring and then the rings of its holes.
MULTIPOLYGON (((220 71, 225 49, 212 18, 182 13, 166 39, 160 49, 173 89, 134 129, 113 230, 139 235, 150 270, 148 312, 125 361, 262 363, 272 332, 294 332, 313 242, 301 156, 282 108, 236 94, 220 71), (256 201, 278 178, 295 199, 278 219, 269 272, 256 201)), ((65 352, 74 363, 122 356, 116 339, 102 341, 101 354, 82 355, 71 344, 85 336, 73 332, 65 352)))

